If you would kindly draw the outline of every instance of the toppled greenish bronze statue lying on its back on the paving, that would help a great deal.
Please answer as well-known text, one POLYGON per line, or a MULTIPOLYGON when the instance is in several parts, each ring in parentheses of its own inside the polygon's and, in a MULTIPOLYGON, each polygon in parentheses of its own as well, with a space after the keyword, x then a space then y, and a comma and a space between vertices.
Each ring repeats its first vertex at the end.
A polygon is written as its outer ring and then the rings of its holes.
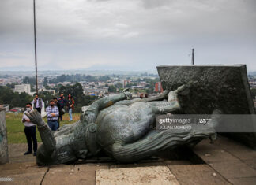
POLYGON ((37 151, 36 162, 38 165, 65 164, 95 156, 100 150, 117 161, 134 162, 161 150, 212 137, 215 123, 204 131, 175 134, 153 129, 157 114, 175 113, 181 109, 178 94, 186 91, 182 86, 156 97, 131 99, 130 92, 125 90, 93 102, 80 120, 58 131, 51 131, 40 113, 32 111, 27 115, 37 125, 43 142, 37 151))

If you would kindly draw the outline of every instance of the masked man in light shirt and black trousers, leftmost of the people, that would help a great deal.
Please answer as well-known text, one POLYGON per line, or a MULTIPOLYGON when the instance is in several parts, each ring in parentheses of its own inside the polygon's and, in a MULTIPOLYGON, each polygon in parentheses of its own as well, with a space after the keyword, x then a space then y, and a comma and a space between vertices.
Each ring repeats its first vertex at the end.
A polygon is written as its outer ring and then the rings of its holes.
POLYGON ((36 139, 36 125, 29 120, 29 118, 25 115, 25 113, 29 113, 32 110, 32 104, 27 103, 26 104, 26 110, 23 113, 22 122, 24 123, 24 133, 27 138, 28 142, 28 151, 24 153, 24 155, 32 154, 32 141, 33 141, 33 150, 34 150, 34 156, 36 156, 36 150, 37 150, 37 139, 36 139))

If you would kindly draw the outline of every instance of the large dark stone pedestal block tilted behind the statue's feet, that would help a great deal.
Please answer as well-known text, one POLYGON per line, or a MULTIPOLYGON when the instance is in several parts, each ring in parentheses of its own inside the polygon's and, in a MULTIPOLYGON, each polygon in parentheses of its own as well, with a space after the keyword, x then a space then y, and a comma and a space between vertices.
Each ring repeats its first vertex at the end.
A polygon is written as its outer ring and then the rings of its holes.
MULTIPOLYGON (((211 114, 221 109, 224 114, 255 114, 246 65, 162 65, 157 70, 164 90, 183 84, 190 88, 189 94, 179 94, 183 113, 211 114)), ((255 132, 227 135, 256 149, 255 132)))

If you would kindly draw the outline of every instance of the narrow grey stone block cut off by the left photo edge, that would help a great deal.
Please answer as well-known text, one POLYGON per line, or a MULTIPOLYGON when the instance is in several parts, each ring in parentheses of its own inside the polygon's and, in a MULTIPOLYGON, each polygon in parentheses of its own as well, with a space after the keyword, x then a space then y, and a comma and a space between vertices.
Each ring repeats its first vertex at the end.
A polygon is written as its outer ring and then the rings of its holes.
POLYGON ((6 129, 6 109, 0 108, 0 164, 9 162, 6 129))

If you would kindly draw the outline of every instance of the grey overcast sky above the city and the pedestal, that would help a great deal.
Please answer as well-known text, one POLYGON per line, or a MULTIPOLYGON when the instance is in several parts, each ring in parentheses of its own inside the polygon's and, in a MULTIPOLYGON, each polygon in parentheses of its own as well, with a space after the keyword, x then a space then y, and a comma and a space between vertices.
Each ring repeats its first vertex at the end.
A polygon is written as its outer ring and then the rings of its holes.
MULTIPOLYGON (((36 0, 39 70, 247 64, 255 0, 36 0)), ((0 70, 33 70, 32 0, 0 1, 0 70)))

